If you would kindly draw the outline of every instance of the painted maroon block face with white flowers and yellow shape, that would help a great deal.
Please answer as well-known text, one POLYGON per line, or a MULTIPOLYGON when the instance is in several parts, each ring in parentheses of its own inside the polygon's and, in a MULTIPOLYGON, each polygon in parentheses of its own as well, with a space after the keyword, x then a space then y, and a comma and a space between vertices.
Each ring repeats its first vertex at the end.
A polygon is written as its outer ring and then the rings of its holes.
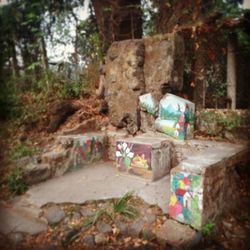
POLYGON ((120 171, 151 178, 151 154, 150 145, 122 141, 116 144, 116 163, 120 171))

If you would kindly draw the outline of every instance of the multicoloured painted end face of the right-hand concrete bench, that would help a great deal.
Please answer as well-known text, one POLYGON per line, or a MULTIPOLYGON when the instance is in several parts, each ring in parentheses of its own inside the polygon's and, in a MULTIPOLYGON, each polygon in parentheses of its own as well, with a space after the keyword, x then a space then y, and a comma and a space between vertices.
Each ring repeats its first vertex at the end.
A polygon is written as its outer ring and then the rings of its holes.
POLYGON ((169 215, 195 228, 201 226, 202 178, 184 172, 171 175, 169 215))

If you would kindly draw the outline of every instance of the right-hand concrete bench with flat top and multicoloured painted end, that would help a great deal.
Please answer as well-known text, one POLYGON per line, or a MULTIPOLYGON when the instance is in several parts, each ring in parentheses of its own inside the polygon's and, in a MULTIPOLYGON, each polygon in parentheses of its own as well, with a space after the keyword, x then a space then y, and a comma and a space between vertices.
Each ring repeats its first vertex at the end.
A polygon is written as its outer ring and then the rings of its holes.
POLYGON ((230 170, 247 159, 247 146, 215 142, 188 155, 171 170, 170 216, 196 229, 215 222, 227 203, 230 170))

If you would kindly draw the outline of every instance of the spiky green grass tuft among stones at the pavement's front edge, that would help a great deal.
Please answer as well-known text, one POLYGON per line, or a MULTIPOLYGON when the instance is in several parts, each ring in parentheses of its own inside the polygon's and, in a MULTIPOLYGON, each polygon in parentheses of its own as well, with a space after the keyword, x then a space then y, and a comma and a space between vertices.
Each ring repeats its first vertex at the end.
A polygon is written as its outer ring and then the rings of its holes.
POLYGON ((136 217, 139 211, 134 206, 129 204, 132 198, 133 198, 133 192, 128 192, 119 200, 113 201, 112 203, 113 215, 118 213, 129 217, 136 217))

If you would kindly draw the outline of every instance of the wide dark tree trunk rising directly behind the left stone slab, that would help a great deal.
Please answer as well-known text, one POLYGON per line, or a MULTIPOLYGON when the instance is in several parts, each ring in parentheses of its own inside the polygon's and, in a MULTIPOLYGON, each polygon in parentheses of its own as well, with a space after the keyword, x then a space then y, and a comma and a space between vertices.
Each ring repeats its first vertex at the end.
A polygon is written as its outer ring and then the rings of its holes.
POLYGON ((142 37, 140 0, 92 0, 103 52, 114 41, 142 37))

